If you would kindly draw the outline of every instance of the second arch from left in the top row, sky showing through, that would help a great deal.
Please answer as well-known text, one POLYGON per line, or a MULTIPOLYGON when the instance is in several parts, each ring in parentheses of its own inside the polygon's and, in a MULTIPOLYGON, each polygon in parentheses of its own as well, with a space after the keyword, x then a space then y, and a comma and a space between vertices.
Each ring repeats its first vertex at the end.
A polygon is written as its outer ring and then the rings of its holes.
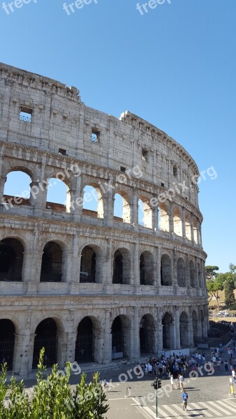
POLYGON ((46 208, 52 211, 70 212, 71 195, 69 188, 56 177, 51 177, 47 184, 46 208))

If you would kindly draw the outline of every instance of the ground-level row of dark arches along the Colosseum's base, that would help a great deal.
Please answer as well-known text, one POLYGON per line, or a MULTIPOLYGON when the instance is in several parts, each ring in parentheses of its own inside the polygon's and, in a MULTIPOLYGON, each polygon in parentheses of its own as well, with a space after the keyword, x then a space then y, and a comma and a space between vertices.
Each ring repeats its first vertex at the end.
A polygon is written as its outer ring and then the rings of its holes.
MULTIPOLYGON (((192 311, 191 320, 185 311, 182 311, 177 318, 177 328, 180 337, 180 347, 188 347, 196 344, 202 337, 204 330, 203 311, 200 311, 200 318, 195 310, 192 311), (191 322, 191 323, 189 323, 191 322), (190 337, 190 329, 193 330, 193 342, 190 337), (200 336, 199 336, 200 335, 200 336)), ((150 355, 155 353, 158 344, 156 339, 161 340, 161 346, 164 349, 175 348, 176 323, 173 314, 165 312, 161 319, 162 336, 156 330, 154 317, 151 314, 145 314, 140 319, 138 330, 138 355, 150 355)), ((128 316, 121 314, 112 321, 109 332, 110 342, 105 345, 110 346, 111 360, 119 358, 131 358, 131 320, 128 316)), ((72 359, 77 362, 103 362, 101 359, 101 339, 103 339, 103 327, 95 316, 85 316, 78 324, 78 328, 73 335, 74 353, 72 359)), ((45 363, 51 366, 59 361, 59 334, 61 325, 57 318, 47 317, 41 321, 33 333, 31 345, 32 353, 29 353, 31 360, 29 370, 36 368, 41 348, 45 348, 45 363)), ((17 330, 13 321, 7 318, 0 319, 0 363, 8 362, 10 370, 16 369, 16 343, 15 337, 17 330)), ((160 346, 160 345, 159 345, 160 346)), ((22 356, 22 355, 21 355, 22 356)))

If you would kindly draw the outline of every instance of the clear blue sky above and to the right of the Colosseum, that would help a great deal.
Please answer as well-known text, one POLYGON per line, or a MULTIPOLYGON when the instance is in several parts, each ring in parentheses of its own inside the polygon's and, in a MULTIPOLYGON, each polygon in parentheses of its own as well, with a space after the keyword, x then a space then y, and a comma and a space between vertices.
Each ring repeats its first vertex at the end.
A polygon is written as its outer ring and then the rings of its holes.
MULTIPOLYGON (((6 1, 8 3, 8 1, 6 1)), ((180 142, 200 171, 207 264, 236 264, 236 1, 92 0, 68 15, 61 0, 31 0, 7 14, 0 0, 0 60, 80 89, 87 105, 130 110, 180 142), (140 1, 140 4, 145 1, 140 1)), ((69 2, 68 2, 69 3, 69 2)))

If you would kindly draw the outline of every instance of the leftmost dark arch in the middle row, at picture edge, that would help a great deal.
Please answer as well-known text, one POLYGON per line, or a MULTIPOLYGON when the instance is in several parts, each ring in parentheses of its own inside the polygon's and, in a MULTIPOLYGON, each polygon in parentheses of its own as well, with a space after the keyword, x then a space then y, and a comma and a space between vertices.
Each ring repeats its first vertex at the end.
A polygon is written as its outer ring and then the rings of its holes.
POLYGON ((0 242, 0 281, 22 281, 24 247, 19 240, 3 239, 0 242))

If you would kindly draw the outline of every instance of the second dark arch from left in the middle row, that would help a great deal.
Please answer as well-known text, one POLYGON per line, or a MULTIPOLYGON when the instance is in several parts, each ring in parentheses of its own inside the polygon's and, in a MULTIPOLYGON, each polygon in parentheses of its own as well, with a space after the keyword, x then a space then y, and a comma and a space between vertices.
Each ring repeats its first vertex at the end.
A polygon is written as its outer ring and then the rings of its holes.
POLYGON ((61 246, 56 242, 45 244, 42 256, 40 282, 61 282, 62 280, 61 246))

